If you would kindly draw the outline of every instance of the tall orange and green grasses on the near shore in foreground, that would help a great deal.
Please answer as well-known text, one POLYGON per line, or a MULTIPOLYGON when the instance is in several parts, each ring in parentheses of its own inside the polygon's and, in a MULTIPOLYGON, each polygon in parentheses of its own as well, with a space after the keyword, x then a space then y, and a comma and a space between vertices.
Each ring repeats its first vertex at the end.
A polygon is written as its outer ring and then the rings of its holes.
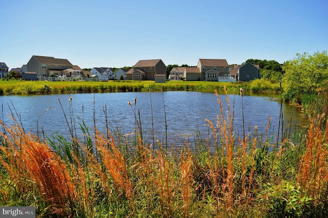
POLYGON ((0 204, 35 206, 40 217, 324 217, 328 123, 313 116, 279 146, 256 127, 235 138, 234 107, 216 95, 213 134, 193 150, 146 143, 137 116, 120 138, 82 124, 83 141, 1 123, 0 204))

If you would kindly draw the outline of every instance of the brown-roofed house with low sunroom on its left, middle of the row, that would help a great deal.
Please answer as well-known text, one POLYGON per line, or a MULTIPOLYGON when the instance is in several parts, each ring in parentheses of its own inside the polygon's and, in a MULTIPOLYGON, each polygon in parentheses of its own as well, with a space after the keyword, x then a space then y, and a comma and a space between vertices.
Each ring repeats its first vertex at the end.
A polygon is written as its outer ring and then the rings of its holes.
POLYGON ((166 65, 160 59, 140 60, 127 72, 127 80, 153 80, 162 82, 166 78, 166 65))

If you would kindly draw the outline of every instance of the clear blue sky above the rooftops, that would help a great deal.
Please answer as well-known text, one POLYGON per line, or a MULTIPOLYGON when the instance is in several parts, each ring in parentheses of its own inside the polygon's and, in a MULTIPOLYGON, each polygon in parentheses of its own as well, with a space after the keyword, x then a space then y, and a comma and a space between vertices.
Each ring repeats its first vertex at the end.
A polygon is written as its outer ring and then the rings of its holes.
POLYGON ((283 63, 328 50, 327 10, 326 0, 1 0, 0 62, 21 67, 41 55, 81 68, 158 58, 283 63))

